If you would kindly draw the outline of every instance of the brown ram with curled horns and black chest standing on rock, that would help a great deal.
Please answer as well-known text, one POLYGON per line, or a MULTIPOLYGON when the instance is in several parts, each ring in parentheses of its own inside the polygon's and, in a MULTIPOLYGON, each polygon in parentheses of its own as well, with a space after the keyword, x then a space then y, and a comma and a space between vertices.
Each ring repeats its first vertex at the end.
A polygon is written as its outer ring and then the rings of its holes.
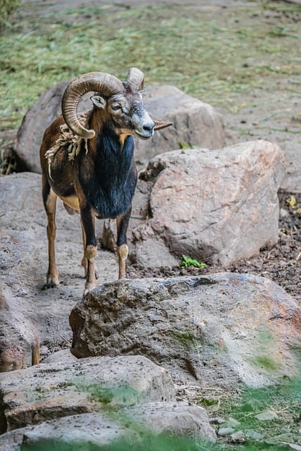
POLYGON ((137 183, 133 136, 147 140, 154 130, 171 125, 149 117, 142 100, 144 78, 137 68, 130 68, 123 82, 101 72, 80 75, 63 94, 63 115, 44 132, 40 161, 48 220, 47 287, 59 285, 54 247, 57 197, 68 213, 80 212, 85 292, 96 285, 95 217, 116 218, 119 278, 125 278, 126 233, 137 183), (87 92, 94 92, 92 109, 78 115, 79 101, 87 92))

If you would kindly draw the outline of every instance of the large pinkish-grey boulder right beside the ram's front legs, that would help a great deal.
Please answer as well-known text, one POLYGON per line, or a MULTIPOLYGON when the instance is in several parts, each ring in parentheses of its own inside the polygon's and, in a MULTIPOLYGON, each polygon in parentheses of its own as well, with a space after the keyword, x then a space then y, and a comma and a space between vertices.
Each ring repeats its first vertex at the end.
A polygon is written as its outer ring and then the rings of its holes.
MULTIPOLYGON (((283 152, 266 141, 166 152, 140 172, 129 238, 141 266, 182 254, 210 264, 252 257, 278 240, 283 152)), ((112 247, 106 221, 103 243, 112 247)), ((176 257, 176 259, 175 259, 176 257)))

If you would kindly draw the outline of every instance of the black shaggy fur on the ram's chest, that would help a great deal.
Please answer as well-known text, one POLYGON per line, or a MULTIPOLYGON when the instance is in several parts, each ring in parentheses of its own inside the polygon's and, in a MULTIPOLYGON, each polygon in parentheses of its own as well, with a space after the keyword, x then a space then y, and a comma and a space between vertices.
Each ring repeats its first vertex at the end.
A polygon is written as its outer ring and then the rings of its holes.
POLYGON ((116 218, 128 211, 137 183, 133 137, 128 136, 121 146, 118 136, 106 128, 97 137, 97 155, 93 161, 88 163, 90 156, 85 150, 80 154, 81 185, 97 216, 116 218))

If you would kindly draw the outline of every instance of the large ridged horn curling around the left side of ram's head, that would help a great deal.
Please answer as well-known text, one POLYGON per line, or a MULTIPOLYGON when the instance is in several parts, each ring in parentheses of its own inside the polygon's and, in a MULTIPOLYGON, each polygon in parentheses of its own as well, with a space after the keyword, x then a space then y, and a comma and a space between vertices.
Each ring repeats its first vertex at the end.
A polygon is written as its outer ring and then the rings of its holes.
POLYGON ((66 87, 61 102, 63 118, 75 135, 91 139, 95 136, 94 130, 87 130, 78 121, 78 102, 86 92, 100 92, 104 97, 123 91, 121 80, 103 72, 90 72, 80 75, 72 80, 66 87))

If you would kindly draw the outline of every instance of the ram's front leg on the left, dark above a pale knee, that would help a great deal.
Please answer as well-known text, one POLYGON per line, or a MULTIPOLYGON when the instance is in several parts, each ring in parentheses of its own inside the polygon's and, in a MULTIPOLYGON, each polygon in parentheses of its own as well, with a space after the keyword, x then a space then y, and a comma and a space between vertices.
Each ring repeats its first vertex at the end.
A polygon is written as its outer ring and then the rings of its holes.
POLYGON ((96 287, 95 257, 97 254, 97 241, 94 231, 94 217, 89 206, 80 209, 82 228, 85 232, 84 257, 87 259, 87 274, 84 295, 96 287))

